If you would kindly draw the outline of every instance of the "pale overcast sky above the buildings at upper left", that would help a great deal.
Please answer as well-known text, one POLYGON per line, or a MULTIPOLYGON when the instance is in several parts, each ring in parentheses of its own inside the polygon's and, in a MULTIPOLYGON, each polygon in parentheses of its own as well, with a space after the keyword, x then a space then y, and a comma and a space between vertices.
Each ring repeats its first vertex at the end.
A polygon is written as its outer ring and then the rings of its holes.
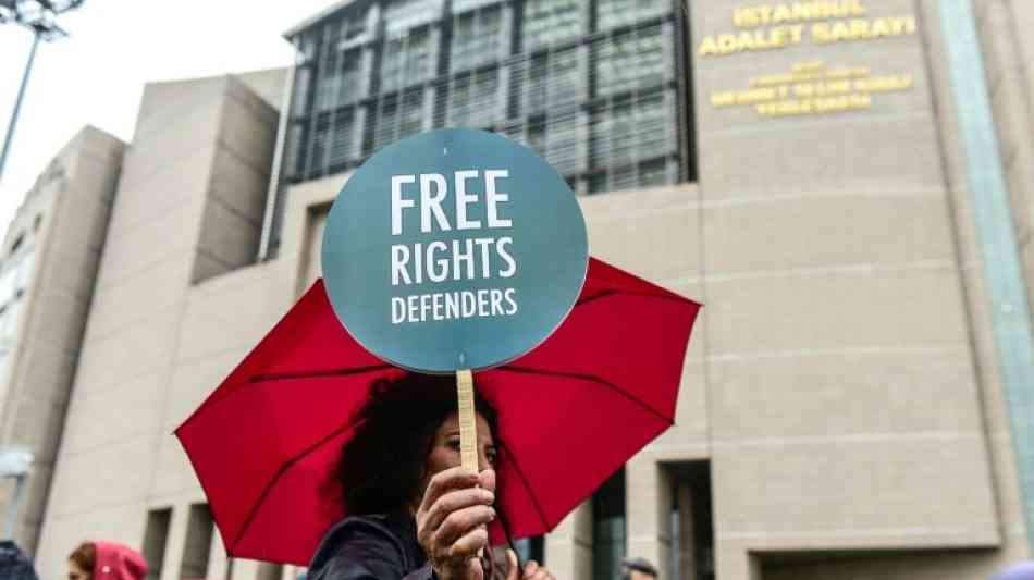
MULTIPOLYGON (((0 235, 36 176, 84 125, 133 136, 144 85, 286 66, 282 33, 334 0, 86 0, 41 42, 0 177, 0 235)), ((0 25, 0 145, 32 35, 0 25)))

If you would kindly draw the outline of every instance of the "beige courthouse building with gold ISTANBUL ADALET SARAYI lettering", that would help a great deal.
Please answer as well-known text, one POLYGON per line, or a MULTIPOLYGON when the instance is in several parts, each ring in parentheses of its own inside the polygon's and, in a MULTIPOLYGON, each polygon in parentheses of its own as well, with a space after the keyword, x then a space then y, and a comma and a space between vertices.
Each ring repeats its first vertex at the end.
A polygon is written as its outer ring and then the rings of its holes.
POLYGON ((170 433, 318 279, 349 172, 445 126, 539 151, 594 256, 706 305, 677 424, 524 544, 557 578, 1031 557, 1030 24, 1020 0, 346 0, 286 33, 290 70, 148 85, 25 515, 39 569, 103 538, 156 580, 300 572, 226 560, 170 433))

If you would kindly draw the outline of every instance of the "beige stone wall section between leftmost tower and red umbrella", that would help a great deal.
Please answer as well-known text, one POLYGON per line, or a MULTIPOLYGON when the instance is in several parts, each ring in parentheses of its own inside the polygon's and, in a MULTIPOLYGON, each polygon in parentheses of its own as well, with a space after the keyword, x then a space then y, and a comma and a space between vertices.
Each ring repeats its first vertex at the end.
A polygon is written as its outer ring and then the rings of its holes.
POLYGON ((176 506, 162 577, 179 578, 180 532, 204 496, 170 433, 291 300, 273 264, 212 277, 254 260, 275 122, 230 76, 146 88, 37 553, 42 577, 61 576, 84 539, 139 547, 148 509, 176 506))

